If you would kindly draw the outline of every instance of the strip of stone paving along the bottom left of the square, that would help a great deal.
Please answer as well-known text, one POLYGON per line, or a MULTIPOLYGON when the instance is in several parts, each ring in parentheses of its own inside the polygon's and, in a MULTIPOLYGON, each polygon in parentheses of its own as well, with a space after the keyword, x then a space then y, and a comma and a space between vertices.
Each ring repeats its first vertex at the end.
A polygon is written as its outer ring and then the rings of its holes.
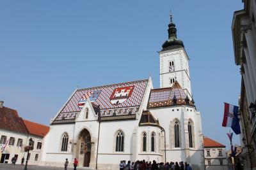
MULTIPOLYGON (((74 168, 68 168, 68 170, 73 170, 74 168)), ((90 168, 79 168, 77 167, 77 170, 80 169, 86 169, 86 170, 93 170, 90 168)), ((11 164, 0 164, 0 170, 24 170, 24 166, 21 165, 11 165, 11 164)), ((64 167, 45 167, 45 166, 31 166, 28 165, 28 170, 64 170, 64 167)))

